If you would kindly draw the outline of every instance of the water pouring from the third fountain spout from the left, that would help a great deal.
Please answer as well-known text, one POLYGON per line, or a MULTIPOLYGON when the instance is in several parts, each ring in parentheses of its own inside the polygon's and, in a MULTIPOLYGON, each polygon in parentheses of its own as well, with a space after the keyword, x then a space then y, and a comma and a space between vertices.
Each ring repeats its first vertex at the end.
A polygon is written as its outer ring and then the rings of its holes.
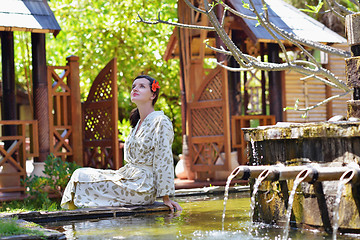
POLYGON ((284 234, 283 234, 284 240, 287 240, 288 236, 289 236, 290 217, 291 217, 292 205, 294 202, 296 188, 299 186, 299 184, 302 181, 305 181, 311 174, 312 174, 311 169, 309 169, 309 168, 304 169, 296 176, 296 178, 294 180, 294 185, 293 185, 293 188, 292 188, 290 196, 289 196, 288 208, 286 210, 286 215, 285 215, 286 222, 285 222, 285 229, 284 229, 284 234))

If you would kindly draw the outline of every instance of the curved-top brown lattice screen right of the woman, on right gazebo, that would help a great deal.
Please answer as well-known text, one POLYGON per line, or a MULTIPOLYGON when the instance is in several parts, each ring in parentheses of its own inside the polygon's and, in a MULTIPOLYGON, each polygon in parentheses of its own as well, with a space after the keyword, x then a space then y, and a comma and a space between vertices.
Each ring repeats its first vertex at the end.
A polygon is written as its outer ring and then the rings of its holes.
MULTIPOLYGON (((196 172, 225 170, 230 154, 227 124, 227 78, 216 68, 204 79, 203 85, 190 104, 190 152, 192 169, 196 172)), ((205 173, 206 175, 206 173, 205 173)), ((209 175, 210 177, 210 175, 209 175)))

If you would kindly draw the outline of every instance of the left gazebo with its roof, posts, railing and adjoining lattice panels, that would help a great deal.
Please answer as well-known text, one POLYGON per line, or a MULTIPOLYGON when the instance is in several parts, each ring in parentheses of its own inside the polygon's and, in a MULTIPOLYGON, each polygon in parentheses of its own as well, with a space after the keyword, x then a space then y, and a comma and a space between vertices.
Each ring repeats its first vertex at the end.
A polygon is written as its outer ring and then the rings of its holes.
MULTIPOLYGON (((45 34, 59 33, 45 0, 4 0, 0 6, 2 99, 0 121, 0 201, 25 197, 20 179, 26 160, 43 175, 49 154, 80 166, 118 169, 116 58, 109 61, 81 103, 79 58, 66 66, 47 66, 45 34), (33 116, 20 120, 15 92, 14 31, 31 32, 33 116)), ((1 96, 1 95, 0 95, 1 96)))

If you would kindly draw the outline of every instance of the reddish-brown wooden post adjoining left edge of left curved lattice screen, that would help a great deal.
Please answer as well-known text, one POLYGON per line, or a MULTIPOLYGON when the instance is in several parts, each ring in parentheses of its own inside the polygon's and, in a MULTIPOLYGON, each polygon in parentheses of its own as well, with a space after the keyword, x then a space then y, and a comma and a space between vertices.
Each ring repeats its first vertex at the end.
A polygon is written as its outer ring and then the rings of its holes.
POLYGON ((70 88, 70 105, 68 112, 69 124, 72 126, 72 134, 70 136, 70 146, 73 149, 73 155, 69 157, 71 161, 78 165, 83 165, 83 128, 82 128, 82 112, 80 99, 80 77, 79 77, 79 57, 69 56, 66 58, 69 66, 68 86, 70 88))

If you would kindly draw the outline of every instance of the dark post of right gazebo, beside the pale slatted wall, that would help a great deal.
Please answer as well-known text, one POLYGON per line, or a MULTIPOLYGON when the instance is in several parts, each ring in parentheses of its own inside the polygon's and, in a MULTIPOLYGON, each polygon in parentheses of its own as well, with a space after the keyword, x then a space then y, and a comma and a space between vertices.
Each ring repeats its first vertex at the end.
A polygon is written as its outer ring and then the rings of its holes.
MULTIPOLYGON (((268 43, 268 61, 280 63, 279 46, 268 43)), ((276 122, 283 121, 283 79, 279 71, 269 72, 270 115, 275 115, 276 122)))

